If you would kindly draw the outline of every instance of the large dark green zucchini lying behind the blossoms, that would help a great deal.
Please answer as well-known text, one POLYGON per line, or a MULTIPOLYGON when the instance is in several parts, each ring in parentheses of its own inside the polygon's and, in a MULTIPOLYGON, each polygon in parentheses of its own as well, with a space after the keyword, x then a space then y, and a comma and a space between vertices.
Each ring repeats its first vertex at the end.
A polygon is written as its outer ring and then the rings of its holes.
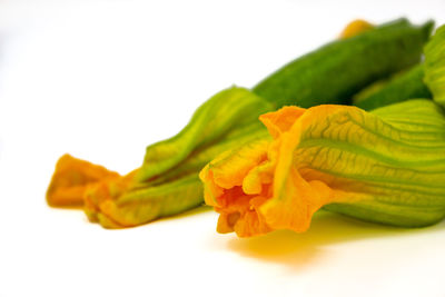
POLYGON ((349 103, 373 81, 417 63, 433 26, 399 19, 330 42, 278 69, 253 91, 276 107, 349 103))

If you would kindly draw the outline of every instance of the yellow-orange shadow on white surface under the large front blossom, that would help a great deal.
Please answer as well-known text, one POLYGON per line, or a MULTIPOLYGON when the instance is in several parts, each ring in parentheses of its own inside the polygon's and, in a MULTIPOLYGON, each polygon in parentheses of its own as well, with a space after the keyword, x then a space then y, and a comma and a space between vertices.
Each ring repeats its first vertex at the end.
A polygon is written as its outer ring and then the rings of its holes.
POLYGON ((230 238, 227 247, 243 257, 256 258, 301 268, 323 258, 329 245, 358 241, 370 238, 404 237, 418 232, 432 232, 444 228, 445 222, 426 228, 397 228, 364 222, 320 210, 309 230, 296 234, 277 230, 253 238, 230 238))

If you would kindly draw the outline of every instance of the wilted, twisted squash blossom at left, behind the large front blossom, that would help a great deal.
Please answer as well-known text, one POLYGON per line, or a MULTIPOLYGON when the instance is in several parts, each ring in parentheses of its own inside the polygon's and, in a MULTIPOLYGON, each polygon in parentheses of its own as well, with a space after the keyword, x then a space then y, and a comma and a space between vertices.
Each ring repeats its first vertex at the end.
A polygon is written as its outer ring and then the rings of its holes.
POLYGON ((274 109, 244 88, 233 87, 215 95, 195 112, 182 132, 151 147, 151 156, 164 161, 164 167, 171 162, 179 166, 144 181, 137 178, 140 168, 120 176, 66 155, 56 166, 47 191, 48 204, 83 206, 91 221, 107 228, 137 226, 197 207, 202 204, 199 170, 219 152, 263 138, 267 132, 257 117, 274 109), (165 155, 172 157, 162 158, 165 155), (178 161, 179 158, 185 160, 178 161))

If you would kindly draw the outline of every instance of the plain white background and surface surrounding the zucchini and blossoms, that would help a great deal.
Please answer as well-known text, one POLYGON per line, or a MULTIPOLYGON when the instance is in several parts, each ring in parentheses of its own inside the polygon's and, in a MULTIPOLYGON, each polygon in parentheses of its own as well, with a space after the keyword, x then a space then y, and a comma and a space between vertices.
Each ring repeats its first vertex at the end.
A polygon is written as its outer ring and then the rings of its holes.
POLYGON ((445 296, 445 224, 239 239, 205 209, 106 230, 44 202, 62 154, 126 174, 218 90, 400 16, 445 2, 0 1, 0 296, 445 296))

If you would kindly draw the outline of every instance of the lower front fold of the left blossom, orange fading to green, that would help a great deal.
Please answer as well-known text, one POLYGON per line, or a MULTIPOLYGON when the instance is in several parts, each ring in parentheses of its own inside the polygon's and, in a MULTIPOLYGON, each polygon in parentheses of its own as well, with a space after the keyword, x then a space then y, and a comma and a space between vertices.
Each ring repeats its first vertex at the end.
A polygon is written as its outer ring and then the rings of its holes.
POLYGON ((88 218, 106 228, 132 227, 202 204, 202 185, 195 174, 158 186, 136 186, 129 176, 90 187, 85 195, 88 218))

